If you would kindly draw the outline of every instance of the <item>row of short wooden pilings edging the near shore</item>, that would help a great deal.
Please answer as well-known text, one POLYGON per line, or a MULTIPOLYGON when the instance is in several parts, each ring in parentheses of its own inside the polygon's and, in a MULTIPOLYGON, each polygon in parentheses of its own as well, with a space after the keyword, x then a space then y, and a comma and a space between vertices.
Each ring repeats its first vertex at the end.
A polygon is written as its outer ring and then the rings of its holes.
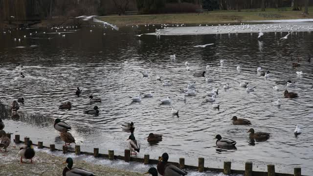
MULTIPOLYGON (((11 134, 7 134, 7 136, 11 138, 11 134)), ((20 141, 20 135, 19 134, 15 135, 15 143, 18 144, 18 143, 24 142, 24 144, 26 145, 27 141, 29 141, 29 137, 24 137, 24 141, 20 141)), ((89 154, 89 155, 93 155, 94 157, 101 156, 101 157, 109 158, 110 160, 123 159, 126 162, 138 161, 138 162, 143 162, 144 164, 157 164, 158 162, 158 160, 156 159, 150 159, 149 154, 144 154, 143 159, 131 157, 131 150, 129 149, 125 149, 124 156, 116 156, 114 155, 113 150, 109 150, 108 154, 99 154, 99 148, 93 148, 93 153, 81 152, 80 145, 75 145, 75 151, 69 151, 67 146, 63 146, 62 150, 58 150, 55 148, 54 144, 50 144, 49 147, 45 147, 42 141, 39 141, 37 145, 36 144, 33 144, 33 145, 37 146, 38 149, 48 148, 50 149, 50 151, 63 151, 64 154, 66 153, 89 154)), ((294 168, 293 175, 275 173, 275 165, 273 164, 267 165, 268 172, 252 171, 252 162, 245 163, 245 171, 232 170, 230 161, 224 161, 224 169, 205 168, 203 157, 198 158, 198 167, 185 165, 185 158, 179 158, 179 163, 175 163, 175 162, 169 162, 169 163, 175 164, 181 169, 193 169, 193 170, 198 170, 198 172, 204 172, 204 171, 223 172, 225 175, 244 174, 245 176, 301 176, 301 168, 294 168)))

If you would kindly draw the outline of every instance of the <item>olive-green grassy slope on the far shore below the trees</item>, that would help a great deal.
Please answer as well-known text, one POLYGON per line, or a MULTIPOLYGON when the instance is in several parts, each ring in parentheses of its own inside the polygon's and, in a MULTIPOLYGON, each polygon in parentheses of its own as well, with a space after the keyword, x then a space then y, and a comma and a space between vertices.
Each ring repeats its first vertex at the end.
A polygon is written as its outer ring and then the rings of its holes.
POLYGON ((258 20, 284 20, 313 18, 313 8, 309 9, 310 15, 304 16, 301 11, 282 11, 267 9, 266 12, 235 12, 235 11, 212 11, 201 14, 165 14, 165 15, 135 15, 135 16, 104 16, 100 17, 105 22, 118 26, 134 24, 206 24, 220 22, 245 22, 258 20), (272 11, 270 11, 272 10, 272 11))

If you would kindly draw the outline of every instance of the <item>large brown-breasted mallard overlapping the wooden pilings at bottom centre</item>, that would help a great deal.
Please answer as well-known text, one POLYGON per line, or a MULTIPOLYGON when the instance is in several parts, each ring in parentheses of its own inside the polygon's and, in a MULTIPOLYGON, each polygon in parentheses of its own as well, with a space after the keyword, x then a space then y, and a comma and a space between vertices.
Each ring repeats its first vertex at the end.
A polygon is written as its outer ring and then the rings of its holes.
POLYGON ((185 176, 188 173, 179 169, 175 165, 168 163, 168 154, 162 154, 162 157, 159 159, 157 163, 157 172, 162 176, 185 176))

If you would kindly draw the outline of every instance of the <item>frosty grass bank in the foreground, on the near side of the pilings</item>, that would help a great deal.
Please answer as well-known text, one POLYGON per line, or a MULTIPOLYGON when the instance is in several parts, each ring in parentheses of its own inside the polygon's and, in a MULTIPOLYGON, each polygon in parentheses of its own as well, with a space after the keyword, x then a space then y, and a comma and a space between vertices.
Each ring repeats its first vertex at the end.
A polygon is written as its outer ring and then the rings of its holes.
MULTIPOLYGON (((11 143, 8 151, 0 153, 0 176, 62 176, 62 171, 66 164, 62 164, 66 158, 53 156, 45 152, 36 151, 33 164, 30 160, 20 163, 18 149, 11 143)), ((74 160, 73 167, 80 167, 96 173, 97 176, 142 176, 134 172, 125 172, 102 165, 91 164, 81 160, 74 160)))

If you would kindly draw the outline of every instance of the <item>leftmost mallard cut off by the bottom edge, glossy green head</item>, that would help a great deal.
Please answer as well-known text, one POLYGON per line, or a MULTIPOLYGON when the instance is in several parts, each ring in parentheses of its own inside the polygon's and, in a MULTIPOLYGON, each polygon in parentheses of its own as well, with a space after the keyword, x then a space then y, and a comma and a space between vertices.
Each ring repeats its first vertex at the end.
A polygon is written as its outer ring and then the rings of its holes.
POLYGON ((67 166, 63 169, 62 176, 94 176, 92 172, 89 172, 82 168, 73 168, 73 159, 68 157, 63 163, 67 163, 67 166))

